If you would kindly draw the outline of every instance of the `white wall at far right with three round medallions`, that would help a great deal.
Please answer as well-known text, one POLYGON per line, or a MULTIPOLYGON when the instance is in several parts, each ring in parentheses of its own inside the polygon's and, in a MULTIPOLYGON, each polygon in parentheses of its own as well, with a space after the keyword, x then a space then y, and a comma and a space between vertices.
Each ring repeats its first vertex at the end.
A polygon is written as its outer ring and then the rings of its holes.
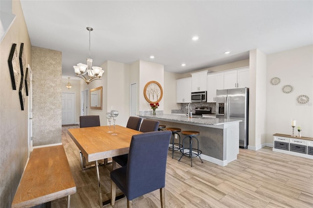
POLYGON ((266 84, 266 142, 272 144, 275 133, 290 135, 292 118, 302 127, 302 136, 313 137, 313 45, 268 55, 266 84), (273 77, 281 82, 271 85, 273 77), (282 91, 286 84, 293 87, 289 94, 282 91), (298 104, 299 95, 309 96, 309 103, 298 104))

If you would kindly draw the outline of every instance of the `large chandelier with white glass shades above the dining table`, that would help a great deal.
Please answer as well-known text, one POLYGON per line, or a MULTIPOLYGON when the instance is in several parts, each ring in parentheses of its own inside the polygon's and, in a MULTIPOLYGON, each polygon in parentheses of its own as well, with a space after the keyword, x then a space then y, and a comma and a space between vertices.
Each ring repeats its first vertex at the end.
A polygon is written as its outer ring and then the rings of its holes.
POLYGON ((77 66, 73 66, 76 76, 82 78, 87 84, 94 80, 100 80, 103 70, 101 67, 98 66, 92 66, 92 59, 90 59, 90 31, 93 30, 92 27, 86 28, 89 31, 89 58, 87 59, 87 65, 83 63, 77 63, 77 66), (86 75, 88 74, 89 77, 86 75), (86 77, 87 78, 86 78, 86 77))

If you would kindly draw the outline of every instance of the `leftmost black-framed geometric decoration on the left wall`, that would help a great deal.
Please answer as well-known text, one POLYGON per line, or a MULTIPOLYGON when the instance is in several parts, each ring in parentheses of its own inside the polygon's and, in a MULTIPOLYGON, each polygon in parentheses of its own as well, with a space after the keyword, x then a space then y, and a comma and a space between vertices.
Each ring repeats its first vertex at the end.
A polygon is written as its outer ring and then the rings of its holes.
POLYGON ((16 43, 12 44, 11 52, 8 59, 9 70, 11 75, 12 88, 16 90, 20 86, 21 82, 21 69, 19 63, 19 55, 16 47, 16 43))

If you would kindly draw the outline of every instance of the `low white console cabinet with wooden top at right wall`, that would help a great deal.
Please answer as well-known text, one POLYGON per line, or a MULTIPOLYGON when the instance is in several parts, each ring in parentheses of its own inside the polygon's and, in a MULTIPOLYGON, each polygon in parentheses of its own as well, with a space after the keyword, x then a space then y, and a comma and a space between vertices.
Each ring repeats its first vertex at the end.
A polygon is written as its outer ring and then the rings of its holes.
POLYGON ((313 159, 313 138, 274 134, 274 152, 313 159))

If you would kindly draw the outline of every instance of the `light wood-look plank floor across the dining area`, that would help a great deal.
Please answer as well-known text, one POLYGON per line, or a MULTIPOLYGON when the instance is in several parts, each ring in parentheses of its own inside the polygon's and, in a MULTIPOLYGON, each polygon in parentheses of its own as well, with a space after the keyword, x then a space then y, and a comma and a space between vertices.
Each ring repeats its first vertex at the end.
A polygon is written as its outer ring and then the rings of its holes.
MULTIPOLYGON (((71 208, 99 208, 94 167, 81 170, 77 146, 62 127, 62 143, 67 153, 77 192, 71 195, 71 208)), ((238 159, 218 166, 199 158, 190 160, 169 151, 166 169, 167 208, 313 208, 313 160, 272 152, 240 149, 238 159)), ((112 166, 100 166, 102 198, 110 198, 112 166)), ((159 208, 159 191, 134 199, 135 208, 159 208)), ((67 199, 55 200, 52 208, 66 208, 67 199)), ((106 208, 112 208, 106 205, 106 208)), ((114 208, 126 208, 126 198, 114 208)))

